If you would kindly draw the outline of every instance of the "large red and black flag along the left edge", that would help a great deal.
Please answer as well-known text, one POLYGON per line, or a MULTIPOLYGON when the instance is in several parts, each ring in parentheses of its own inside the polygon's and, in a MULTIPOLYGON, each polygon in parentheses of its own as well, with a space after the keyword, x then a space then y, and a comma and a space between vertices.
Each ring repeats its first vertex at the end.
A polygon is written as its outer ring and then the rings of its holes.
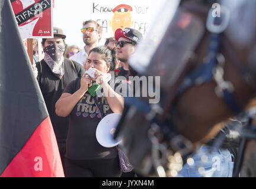
POLYGON ((64 176, 52 123, 9 0, 0 1, 0 175, 64 176))

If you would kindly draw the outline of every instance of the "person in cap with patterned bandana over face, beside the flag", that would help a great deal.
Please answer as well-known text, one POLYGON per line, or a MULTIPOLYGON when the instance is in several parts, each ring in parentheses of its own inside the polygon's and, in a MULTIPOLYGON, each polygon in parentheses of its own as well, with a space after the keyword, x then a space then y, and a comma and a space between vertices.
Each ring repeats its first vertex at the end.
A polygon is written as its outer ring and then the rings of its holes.
POLYGON ((68 117, 60 118, 56 115, 55 103, 70 82, 82 77, 84 68, 76 61, 64 58, 66 35, 62 29, 54 27, 53 33, 54 38, 44 38, 42 40, 44 58, 36 63, 37 81, 52 121, 65 172, 66 137, 69 119, 68 117))

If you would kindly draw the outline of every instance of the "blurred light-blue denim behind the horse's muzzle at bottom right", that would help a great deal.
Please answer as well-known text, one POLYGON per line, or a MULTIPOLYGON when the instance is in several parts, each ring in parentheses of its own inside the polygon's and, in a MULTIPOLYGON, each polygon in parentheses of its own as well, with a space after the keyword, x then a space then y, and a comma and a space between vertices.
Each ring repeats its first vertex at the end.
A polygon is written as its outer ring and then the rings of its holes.
POLYGON ((232 154, 228 149, 218 149, 209 154, 209 146, 201 146, 194 155, 194 164, 185 164, 179 177, 232 177, 232 154), (203 157, 203 158, 202 158, 203 157), (206 158, 207 157, 207 158, 206 158), (203 159, 203 161, 202 161, 203 159))

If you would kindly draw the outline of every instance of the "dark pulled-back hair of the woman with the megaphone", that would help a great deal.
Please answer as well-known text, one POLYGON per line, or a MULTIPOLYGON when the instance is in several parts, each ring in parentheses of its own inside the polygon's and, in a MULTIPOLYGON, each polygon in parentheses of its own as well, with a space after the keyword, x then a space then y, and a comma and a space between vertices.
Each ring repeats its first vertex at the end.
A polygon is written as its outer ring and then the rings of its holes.
POLYGON ((114 49, 111 50, 105 46, 99 46, 99 47, 92 48, 92 50, 89 51, 89 54, 91 52, 101 54, 103 56, 103 59, 107 63, 107 66, 110 65, 110 71, 114 71, 119 67, 119 60, 116 57, 116 51, 114 49))

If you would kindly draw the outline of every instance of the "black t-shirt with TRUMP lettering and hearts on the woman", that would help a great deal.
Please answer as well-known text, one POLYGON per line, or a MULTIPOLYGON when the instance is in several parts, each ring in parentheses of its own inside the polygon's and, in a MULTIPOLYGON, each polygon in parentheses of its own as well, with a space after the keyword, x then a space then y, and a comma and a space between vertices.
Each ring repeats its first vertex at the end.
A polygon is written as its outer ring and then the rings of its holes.
MULTIPOLYGON (((63 93, 75 93, 80 88, 81 78, 73 80, 63 93)), ((102 90, 102 89, 100 89, 102 90)), ((101 116, 113 113, 103 97, 92 97, 86 92, 69 115, 69 130, 66 140, 66 157, 69 159, 108 159, 117 157, 117 149, 105 148, 96 139, 96 129, 101 116), (96 106, 96 100, 98 108, 96 106), (100 110, 101 112, 100 113, 100 110)))

